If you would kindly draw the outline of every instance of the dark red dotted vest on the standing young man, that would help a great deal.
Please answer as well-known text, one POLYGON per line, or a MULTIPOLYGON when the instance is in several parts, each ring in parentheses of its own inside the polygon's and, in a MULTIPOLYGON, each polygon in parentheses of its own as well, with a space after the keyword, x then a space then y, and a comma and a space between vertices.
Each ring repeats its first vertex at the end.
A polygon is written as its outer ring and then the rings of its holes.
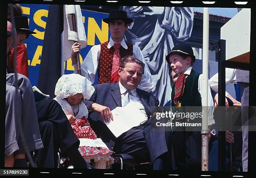
MULTIPOLYGON (((115 48, 112 46, 108 49, 109 41, 100 45, 100 58, 98 67, 98 84, 111 82, 111 72, 113 66, 113 56, 115 48)), ((133 56, 133 45, 126 43, 127 49, 120 47, 120 57, 130 55, 133 56)))

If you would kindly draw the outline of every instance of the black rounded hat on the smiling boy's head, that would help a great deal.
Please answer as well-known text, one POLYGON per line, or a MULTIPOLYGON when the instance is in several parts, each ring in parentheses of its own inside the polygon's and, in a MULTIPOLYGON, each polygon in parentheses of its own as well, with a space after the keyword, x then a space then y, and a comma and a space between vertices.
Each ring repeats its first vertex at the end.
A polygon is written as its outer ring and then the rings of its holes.
POLYGON ((191 46, 186 45, 186 44, 179 44, 177 46, 174 46, 172 48, 172 51, 165 57, 166 61, 170 64, 169 61, 169 56, 171 54, 174 53, 181 53, 181 54, 187 54, 188 56, 190 56, 192 58, 192 60, 195 62, 195 56, 194 56, 194 52, 193 49, 191 48, 191 46))

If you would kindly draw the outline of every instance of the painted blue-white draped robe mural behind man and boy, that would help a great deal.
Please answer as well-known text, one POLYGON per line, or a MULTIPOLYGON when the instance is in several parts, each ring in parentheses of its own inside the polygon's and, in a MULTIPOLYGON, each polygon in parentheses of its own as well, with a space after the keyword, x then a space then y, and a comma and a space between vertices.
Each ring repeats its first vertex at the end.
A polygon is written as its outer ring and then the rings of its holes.
POLYGON ((122 9, 133 19, 125 39, 141 49, 154 80, 154 95, 160 104, 165 104, 172 92, 165 56, 175 44, 190 37, 194 8, 123 6, 122 9))

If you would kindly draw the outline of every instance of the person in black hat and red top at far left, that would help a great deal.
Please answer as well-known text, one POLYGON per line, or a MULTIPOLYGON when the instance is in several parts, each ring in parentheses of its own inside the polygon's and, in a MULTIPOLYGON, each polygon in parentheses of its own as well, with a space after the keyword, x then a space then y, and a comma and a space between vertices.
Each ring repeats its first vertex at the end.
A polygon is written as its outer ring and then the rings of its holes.
MULTIPOLYGON (((25 41, 29 34, 36 34, 36 32, 30 31, 28 28, 28 18, 26 16, 17 16, 14 17, 15 20, 15 29, 17 31, 16 42, 17 42, 17 73, 23 74, 28 77, 28 54, 27 48, 23 41, 25 41)), ((14 48, 11 50, 11 54, 9 56, 8 68, 11 71, 14 71, 13 67, 13 56, 14 48)))

